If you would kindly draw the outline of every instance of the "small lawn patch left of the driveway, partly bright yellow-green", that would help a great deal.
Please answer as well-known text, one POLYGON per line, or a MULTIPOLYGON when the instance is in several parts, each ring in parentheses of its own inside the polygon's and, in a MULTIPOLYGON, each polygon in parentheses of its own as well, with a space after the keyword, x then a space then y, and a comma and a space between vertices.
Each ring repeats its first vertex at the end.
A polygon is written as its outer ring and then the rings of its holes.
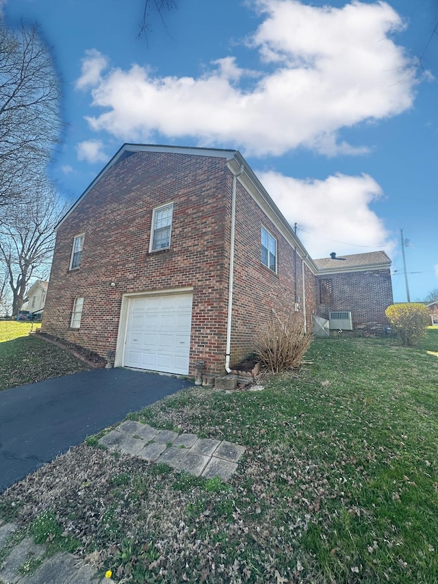
POLYGON ((0 320, 0 391, 89 368, 68 351, 29 335, 40 326, 0 320))

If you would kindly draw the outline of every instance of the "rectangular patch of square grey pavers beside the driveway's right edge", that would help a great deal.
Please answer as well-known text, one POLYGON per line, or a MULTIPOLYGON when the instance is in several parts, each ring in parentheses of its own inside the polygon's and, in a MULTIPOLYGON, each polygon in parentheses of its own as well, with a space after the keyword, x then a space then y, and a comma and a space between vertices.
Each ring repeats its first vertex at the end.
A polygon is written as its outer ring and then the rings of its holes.
POLYGON ((224 481, 235 472, 237 462, 245 451, 244 446, 227 440, 157 430, 149 424, 133 420, 123 422, 105 434, 99 444, 150 462, 166 463, 196 477, 220 477, 224 481))

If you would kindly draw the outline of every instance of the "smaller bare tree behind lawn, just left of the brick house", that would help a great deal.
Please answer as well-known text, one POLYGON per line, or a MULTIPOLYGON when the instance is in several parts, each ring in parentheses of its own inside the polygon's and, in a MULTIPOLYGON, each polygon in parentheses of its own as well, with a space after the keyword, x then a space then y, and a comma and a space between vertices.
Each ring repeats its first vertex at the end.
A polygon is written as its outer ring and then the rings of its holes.
POLYGON ((68 207, 53 185, 41 188, 25 205, 8 207, 8 219, 0 226, 0 263, 12 292, 12 316, 23 306, 31 278, 48 277, 55 246, 53 229, 68 207))

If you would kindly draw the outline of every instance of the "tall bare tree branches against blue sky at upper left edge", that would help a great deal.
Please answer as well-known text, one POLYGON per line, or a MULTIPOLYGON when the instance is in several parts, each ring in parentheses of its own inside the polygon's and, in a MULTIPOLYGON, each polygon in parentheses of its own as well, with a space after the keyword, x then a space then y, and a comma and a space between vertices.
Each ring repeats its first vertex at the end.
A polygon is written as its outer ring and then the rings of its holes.
POLYGON ((0 22, 0 207, 44 179, 62 131, 60 81, 38 27, 0 22))

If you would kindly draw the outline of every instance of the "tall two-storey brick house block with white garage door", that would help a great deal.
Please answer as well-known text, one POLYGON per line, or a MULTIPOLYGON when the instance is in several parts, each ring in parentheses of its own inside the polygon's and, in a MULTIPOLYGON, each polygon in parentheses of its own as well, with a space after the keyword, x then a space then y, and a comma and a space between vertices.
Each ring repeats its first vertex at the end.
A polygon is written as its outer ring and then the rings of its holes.
POLYGON ((239 152, 125 144, 57 226, 42 329, 116 366, 218 374, 272 318, 311 329, 318 273, 239 152))

